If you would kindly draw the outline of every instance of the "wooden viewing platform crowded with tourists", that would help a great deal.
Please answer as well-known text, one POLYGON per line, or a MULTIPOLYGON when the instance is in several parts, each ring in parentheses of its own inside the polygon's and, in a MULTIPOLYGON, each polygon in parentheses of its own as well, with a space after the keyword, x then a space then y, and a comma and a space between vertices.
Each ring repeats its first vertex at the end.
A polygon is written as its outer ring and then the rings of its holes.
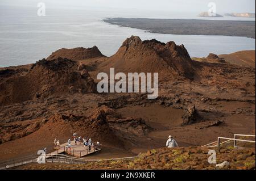
MULTIPOLYGON (((52 157, 57 154, 67 153, 73 155, 74 157, 84 157, 85 155, 96 153, 101 150, 101 145, 92 146, 89 150, 89 146, 85 146, 82 143, 75 145, 75 141, 71 141, 71 148, 67 148, 68 142, 61 144, 59 149, 52 151, 51 153, 46 154, 46 158, 52 157)), ((56 146, 55 146, 56 148, 56 146)))

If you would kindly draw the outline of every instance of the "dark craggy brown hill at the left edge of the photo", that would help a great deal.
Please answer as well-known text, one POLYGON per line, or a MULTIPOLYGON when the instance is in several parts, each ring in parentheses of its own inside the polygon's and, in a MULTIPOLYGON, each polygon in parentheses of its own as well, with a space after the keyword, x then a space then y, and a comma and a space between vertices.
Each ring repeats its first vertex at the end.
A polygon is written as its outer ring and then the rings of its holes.
POLYGON ((36 62, 25 75, 14 75, 0 83, 0 105, 45 98, 49 95, 95 92, 87 71, 67 58, 36 62))

